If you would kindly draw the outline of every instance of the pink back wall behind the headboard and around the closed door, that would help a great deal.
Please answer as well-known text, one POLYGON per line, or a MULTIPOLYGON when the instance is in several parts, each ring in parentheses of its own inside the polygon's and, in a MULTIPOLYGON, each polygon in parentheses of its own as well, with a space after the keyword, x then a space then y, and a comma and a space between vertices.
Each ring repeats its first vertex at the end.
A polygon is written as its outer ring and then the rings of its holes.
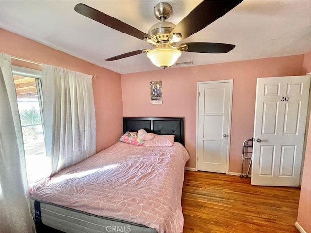
POLYGON ((240 173, 242 144, 252 138, 256 78, 301 75, 303 55, 168 68, 122 75, 123 113, 130 116, 184 116, 187 167, 195 168, 196 86, 200 81, 233 79, 229 171, 240 173), (162 80, 163 104, 151 105, 149 82, 162 80))

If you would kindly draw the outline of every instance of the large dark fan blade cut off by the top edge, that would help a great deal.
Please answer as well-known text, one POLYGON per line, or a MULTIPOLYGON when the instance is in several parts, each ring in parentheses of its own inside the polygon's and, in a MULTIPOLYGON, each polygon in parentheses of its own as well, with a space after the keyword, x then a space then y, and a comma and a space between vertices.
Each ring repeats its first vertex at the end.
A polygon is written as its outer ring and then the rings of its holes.
POLYGON ((174 33, 180 33, 181 39, 186 39, 190 35, 199 32, 207 25, 236 7, 242 0, 207 0, 202 1, 195 7, 169 35, 173 38, 174 33))

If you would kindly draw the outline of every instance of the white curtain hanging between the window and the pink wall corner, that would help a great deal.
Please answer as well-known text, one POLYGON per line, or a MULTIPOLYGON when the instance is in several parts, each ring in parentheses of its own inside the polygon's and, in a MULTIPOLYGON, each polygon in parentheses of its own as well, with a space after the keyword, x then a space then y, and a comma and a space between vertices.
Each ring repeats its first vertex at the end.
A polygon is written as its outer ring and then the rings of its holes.
POLYGON ((95 154, 92 76, 41 65, 45 147, 52 175, 95 154))

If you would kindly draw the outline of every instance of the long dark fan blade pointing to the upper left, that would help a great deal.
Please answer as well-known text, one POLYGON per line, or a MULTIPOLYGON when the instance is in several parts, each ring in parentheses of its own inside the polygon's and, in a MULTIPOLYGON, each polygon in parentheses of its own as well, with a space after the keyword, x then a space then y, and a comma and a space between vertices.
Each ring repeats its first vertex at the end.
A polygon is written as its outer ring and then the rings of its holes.
POLYGON ((84 15, 90 19, 93 19, 99 23, 102 23, 110 28, 113 28, 119 32, 134 36, 138 39, 143 40, 144 37, 151 38, 150 35, 139 31, 138 29, 123 23, 119 19, 108 16, 107 14, 98 11, 90 6, 87 6, 83 3, 79 3, 74 7, 74 10, 81 15, 84 15))

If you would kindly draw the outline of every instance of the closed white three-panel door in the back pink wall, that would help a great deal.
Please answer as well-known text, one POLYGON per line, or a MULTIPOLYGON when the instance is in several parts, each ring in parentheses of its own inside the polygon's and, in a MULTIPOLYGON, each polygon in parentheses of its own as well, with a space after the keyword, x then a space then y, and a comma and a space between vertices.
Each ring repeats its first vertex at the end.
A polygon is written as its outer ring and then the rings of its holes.
POLYGON ((233 80, 199 82, 197 169, 227 173, 233 80))

